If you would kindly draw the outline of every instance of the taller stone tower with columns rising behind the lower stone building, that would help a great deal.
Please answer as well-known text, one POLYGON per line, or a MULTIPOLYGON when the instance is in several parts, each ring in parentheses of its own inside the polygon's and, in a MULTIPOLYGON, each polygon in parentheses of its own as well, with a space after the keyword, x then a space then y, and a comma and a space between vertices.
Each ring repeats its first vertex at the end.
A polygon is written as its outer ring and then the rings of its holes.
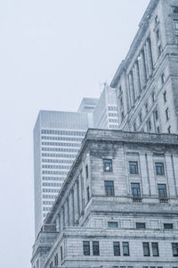
POLYGON ((111 81, 119 129, 178 133, 178 0, 151 0, 111 81))

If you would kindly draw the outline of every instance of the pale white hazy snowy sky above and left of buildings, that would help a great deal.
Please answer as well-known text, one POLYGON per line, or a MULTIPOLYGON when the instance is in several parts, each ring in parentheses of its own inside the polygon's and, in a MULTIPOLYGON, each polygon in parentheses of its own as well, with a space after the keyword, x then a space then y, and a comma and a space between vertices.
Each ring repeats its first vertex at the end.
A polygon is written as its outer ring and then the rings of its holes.
POLYGON ((149 0, 0 1, 0 267, 29 268, 33 127, 77 111, 125 57, 149 0))

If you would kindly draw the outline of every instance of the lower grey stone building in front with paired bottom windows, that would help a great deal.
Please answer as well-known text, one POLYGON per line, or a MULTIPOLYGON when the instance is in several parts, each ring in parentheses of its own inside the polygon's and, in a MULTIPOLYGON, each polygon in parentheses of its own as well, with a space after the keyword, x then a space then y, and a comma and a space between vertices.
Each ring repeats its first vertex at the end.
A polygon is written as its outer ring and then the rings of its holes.
POLYGON ((32 268, 178 266, 178 136, 88 130, 32 268))

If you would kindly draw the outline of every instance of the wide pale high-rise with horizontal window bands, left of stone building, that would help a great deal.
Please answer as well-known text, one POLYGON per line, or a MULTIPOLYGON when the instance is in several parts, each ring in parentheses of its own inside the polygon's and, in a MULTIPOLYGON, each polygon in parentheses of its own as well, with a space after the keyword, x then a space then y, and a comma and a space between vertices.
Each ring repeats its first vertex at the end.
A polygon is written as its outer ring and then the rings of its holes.
POLYGON ((91 114, 40 111, 34 129, 35 230, 61 189, 85 137, 91 114))

